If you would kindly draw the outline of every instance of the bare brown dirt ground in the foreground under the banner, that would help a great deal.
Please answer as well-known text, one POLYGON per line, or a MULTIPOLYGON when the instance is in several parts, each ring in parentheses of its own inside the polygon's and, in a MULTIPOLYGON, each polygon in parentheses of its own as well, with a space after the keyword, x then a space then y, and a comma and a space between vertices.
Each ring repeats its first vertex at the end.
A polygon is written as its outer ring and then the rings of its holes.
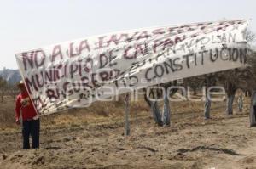
POLYGON ((213 104, 210 120, 204 120, 202 105, 175 104, 171 127, 156 126, 146 111, 132 115, 128 137, 123 115, 42 124, 40 149, 21 150, 20 129, 2 130, 0 168, 256 168, 249 104, 232 116, 224 114, 224 103, 213 104))

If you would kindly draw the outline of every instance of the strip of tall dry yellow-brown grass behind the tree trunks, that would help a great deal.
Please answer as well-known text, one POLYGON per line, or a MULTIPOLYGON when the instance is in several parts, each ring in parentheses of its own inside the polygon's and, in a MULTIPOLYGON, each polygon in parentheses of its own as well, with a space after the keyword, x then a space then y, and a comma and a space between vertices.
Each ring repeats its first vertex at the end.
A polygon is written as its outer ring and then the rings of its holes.
MULTIPOLYGON (((248 99, 247 99, 248 102, 248 99)), ((195 112, 201 112, 203 115, 203 102, 171 102, 172 115, 189 115, 195 112)), ((56 125, 80 125, 80 124, 99 124, 104 122, 124 121, 125 113, 124 99, 113 102, 95 102, 88 108, 66 110, 53 115, 45 115, 41 118, 42 126, 50 127, 56 125)), ((162 105, 162 104, 160 104, 162 105)), ((237 110, 236 100, 234 102, 235 111, 237 110)), ((212 108, 222 107, 224 109, 225 102, 216 102, 212 104, 212 108)), ((214 111, 212 111, 212 115, 214 111)), ((145 116, 151 116, 148 104, 143 99, 131 102, 131 119, 137 119, 145 116)), ((0 103, 0 130, 16 130, 19 127, 15 125, 15 100, 5 98, 0 103)))

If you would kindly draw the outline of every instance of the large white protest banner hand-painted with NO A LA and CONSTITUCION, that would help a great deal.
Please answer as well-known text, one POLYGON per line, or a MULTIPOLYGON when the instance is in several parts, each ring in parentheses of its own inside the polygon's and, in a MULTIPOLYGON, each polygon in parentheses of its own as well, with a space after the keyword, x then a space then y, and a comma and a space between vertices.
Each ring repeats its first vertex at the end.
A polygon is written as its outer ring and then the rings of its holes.
POLYGON ((16 54, 40 115, 246 63, 247 20, 165 25, 61 42, 16 54))

